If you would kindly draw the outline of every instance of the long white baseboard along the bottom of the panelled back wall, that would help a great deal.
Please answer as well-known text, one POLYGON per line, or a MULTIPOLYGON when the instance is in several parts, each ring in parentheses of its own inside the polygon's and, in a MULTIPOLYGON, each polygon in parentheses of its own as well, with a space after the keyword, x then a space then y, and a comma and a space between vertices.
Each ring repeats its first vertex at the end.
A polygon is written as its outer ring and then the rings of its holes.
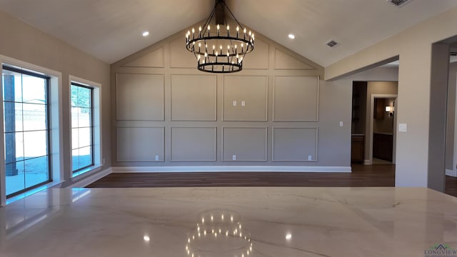
POLYGON ((154 172, 351 172, 351 166, 161 166, 111 167, 113 173, 154 172))

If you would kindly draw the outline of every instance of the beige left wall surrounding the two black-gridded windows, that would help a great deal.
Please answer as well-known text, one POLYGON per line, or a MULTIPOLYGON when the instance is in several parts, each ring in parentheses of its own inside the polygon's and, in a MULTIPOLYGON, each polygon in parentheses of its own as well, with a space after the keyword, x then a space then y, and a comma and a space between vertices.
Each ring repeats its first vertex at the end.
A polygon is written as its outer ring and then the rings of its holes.
POLYGON ((101 84, 103 129, 101 152, 102 158, 105 159, 105 166, 102 169, 109 168, 111 163, 109 65, 2 11, 0 11, 0 34, 0 55, 58 71, 62 75, 60 111, 64 138, 64 180, 71 177, 69 76, 101 84))

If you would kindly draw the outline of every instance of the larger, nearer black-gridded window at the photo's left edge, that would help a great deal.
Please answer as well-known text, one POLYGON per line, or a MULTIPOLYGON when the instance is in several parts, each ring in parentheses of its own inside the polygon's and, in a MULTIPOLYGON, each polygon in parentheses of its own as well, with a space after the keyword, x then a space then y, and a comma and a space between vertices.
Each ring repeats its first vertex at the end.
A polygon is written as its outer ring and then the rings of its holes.
POLYGON ((3 66, 6 196, 52 180, 49 130, 50 77, 3 66))

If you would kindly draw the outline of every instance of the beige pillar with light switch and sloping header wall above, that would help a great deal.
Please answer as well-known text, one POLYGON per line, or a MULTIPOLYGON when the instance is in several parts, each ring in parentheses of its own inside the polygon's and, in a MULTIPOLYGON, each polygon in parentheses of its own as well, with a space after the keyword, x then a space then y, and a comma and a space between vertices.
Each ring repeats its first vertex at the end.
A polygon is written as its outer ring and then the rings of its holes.
POLYGON ((336 79, 399 56, 396 115, 398 124, 407 124, 408 131, 396 136, 396 186, 428 186, 428 173, 444 176, 440 167, 428 166, 429 157, 441 158, 429 151, 428 138, 444 136, 429 133, 431 46, 457 35, 456 23, 457 8, 450 9, 326 67, 325 78, 336 79))

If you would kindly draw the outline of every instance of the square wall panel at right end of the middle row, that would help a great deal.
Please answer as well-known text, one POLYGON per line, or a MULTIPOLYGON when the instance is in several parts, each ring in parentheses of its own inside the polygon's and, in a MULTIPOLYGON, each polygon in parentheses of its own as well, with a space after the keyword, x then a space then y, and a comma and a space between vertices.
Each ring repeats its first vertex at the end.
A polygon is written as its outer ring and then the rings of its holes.
POLYGON ((318 76, 275 76, 273 121, 318 121, 318 76))

